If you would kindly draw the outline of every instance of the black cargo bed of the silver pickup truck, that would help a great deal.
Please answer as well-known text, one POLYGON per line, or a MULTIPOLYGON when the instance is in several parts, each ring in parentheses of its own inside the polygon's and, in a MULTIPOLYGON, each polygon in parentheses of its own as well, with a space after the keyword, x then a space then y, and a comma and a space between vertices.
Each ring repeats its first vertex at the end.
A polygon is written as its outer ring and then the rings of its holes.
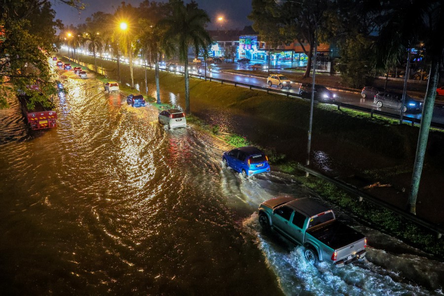
POLYGON ((306 233, 323 242, 333 250, 340 249, 365 238, 362 233, 353 230, 353 228, 337 220, 321 227, 312 228, 313 229, 307 229, 306 233))

